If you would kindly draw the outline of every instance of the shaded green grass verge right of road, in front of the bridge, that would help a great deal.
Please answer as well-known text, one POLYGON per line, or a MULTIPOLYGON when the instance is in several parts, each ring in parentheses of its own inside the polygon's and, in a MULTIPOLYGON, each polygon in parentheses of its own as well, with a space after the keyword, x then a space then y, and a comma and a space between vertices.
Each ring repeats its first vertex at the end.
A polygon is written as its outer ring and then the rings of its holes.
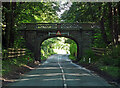
MULTIPOLYGON (((118 78, 119 77, 119 70, 120 70, 120 68, 117 65, 112 65, 112 64, 106 65, 103 60, 104 59, 100 59, 100 58, 98 58, 97 60, 93 59, 93 60, 91 60, 91 63, 89 63, 88 59, 86 59, 85 61, 83 59, 81 59, 79 61, 79 63, 97 66, 98 69, 100 69, 101 71, 106 72, 107 74, 109 74, 113 78, 114 77, 118 78)), ((109 60, 107 62, 109 62, 109 60)))

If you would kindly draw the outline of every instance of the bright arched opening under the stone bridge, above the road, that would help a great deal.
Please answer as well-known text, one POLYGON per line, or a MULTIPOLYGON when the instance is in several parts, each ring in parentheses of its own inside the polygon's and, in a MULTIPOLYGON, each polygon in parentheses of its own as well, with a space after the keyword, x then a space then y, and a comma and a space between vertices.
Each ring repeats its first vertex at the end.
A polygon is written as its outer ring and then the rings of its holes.
POLYGON ((69 37, 50 37, 40 43, 41 59, 53 54, 68 54, 71 58, 78 55, 78 43, 69 37))

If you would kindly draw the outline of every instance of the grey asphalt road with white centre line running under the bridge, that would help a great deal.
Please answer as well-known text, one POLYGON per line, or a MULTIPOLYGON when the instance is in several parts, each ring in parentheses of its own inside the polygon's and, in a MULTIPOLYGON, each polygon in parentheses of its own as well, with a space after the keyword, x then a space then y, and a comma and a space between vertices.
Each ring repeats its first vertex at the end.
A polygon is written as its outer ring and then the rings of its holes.
POLYGON ((45 86, 49 88, 104 86, 106 88, 111 85, 93 72, 72 63, 68 55, 56 54, 9 86, 36 86, 38 88, 45 86))

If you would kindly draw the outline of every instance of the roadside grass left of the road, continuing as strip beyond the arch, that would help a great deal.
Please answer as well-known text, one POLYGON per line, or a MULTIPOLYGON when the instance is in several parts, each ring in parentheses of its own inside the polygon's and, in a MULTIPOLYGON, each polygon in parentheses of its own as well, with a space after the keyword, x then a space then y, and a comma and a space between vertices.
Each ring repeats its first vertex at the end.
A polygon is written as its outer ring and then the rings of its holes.
MULTIPOLYGON (((52 54, 56 54, 56 53, 52 53, 52 54)), ((42 55, 41 60, 45 61, 48 58, 48 56, 52 54, 48 54, 46 56, 42 55)), ((28 65, 28 63, 29 64, 34 63, 34 58, 33 58, 33 54, 28 49, 26 49, 26 55, 23 57, 2 60, 2 75, 4 76, 14 71, 16 68, 20 68, 21 66, 28 65)))

